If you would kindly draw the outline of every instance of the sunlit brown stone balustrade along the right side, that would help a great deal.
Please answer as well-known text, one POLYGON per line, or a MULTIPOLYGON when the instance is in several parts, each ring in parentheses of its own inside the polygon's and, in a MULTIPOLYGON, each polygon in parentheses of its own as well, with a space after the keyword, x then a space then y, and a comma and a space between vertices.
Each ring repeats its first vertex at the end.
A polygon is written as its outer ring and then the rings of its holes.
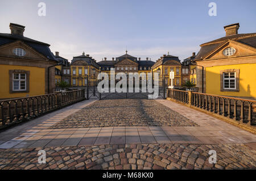
POLYGON ((256 125, 255 100, 175 89, 168 89, 167 98, 187 104, 189 107, 194 107, 234 121, 239 121, 242 124, 256 125))

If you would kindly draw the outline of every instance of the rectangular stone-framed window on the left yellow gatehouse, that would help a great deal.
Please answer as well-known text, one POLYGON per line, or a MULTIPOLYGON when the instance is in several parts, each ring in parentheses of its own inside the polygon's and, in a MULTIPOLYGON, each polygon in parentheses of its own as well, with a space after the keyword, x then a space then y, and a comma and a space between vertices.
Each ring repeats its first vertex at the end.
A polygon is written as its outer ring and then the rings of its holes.
POLYGON ((26 74, 14 73, 13 74, 13 91, 26 90, 26 74))

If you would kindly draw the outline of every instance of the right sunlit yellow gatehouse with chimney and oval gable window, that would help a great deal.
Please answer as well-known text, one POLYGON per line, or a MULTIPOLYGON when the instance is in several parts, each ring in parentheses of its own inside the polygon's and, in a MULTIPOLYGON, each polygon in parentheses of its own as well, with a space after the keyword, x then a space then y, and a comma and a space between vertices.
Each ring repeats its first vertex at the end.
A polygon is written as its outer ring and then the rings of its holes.
POLYGON ((200 92, 256 98, 256 33, 238 34, 239 27, 225 26, 225 37, 200 45, 195 58, 200 92))

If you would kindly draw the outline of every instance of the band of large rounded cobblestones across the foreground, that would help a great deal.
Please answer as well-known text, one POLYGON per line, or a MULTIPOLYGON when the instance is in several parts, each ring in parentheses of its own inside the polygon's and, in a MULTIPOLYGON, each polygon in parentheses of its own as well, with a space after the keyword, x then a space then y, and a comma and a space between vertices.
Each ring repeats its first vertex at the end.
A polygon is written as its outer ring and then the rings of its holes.
POLYGON ((255 144, 126 144, 0 149, 0 169, 256 169, 255 144), (217 163, 209 163, 216 150, 217 163))

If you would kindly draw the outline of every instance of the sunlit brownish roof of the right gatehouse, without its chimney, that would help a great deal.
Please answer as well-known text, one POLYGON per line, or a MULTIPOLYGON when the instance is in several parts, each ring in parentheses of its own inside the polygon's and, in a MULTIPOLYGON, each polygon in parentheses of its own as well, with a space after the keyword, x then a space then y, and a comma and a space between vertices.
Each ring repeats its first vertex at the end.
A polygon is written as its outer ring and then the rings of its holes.
POLYGON ((214 49, 219 47, 221 44, 225 43, 228 40, 237 41, 246 45, 249 45, 251 47, 256 48, 256 33, 242 33, 242 34, 236 34, 236 35, 230 35, 230 36, 224 36, 220 39, 216 39, 213 41, 209 41, 208 43, 201 44, 201 49, 197 53, 195 60, 200 60, 207 56, 210 52, 212 52, 214 49))

